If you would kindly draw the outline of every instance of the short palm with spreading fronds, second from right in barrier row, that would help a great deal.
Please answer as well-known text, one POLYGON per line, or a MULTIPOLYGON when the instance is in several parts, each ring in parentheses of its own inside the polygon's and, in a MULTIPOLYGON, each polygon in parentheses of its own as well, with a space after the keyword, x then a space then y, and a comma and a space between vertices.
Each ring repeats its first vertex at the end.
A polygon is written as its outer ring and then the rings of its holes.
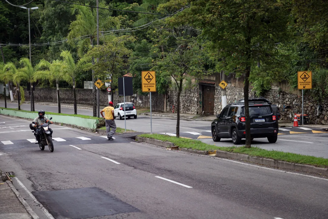
POLYGON ((57 88, 57 103, 58 103, 58 113, 60 113, 60 95, 59 95, 59 81, 64 80, 64 72, 61 70, 63 66, 63 61, 53 60, 51 63, 42 59, 39 62, 40 68, 47 68, 48 70, 37 71, 34 73, 34 80, 49 80, 50 83, 55 81, 57 88))

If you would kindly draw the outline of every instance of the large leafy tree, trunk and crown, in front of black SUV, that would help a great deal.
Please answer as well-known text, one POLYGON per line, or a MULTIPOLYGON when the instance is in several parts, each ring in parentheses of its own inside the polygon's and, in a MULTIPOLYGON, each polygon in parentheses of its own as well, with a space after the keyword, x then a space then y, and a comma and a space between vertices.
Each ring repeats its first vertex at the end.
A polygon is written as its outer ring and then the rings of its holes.
MULTIPOLYGON (((172 0, 163 7, 177 9, 185 4, 186 1, 172 0)), ((277 0, 192 0, 189 9, 171 19, 173 24, 187 21, 203 30, 203 36, 211 41, 208 48, 219 60, 216 70, 245 77, 246 147, 251 147, 249 78, 258 73, 254 71, 257 62, 261 64, 260 71, 266 72, 284 61, 279 57, 277 43, 291 39, 289 15, 283 2, 277 0)))

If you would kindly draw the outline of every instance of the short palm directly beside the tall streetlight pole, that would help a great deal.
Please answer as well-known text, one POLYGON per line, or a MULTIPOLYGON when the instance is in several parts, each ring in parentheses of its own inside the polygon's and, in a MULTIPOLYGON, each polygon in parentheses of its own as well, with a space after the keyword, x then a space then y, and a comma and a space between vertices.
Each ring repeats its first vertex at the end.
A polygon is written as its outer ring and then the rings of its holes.
POLYGON ((36 81, 34 79, 34 73, 40 68, 40 66, 36 65, 33 67, 28 58, 21 58, 19 63, 23 64, 23 68, 17 70, 17 73, 14 75, 14 82, 16 81, 16 83, 18 83, 21 81, 27 81, 31 84, 31 111, 34 111, 33 82, 36 81))

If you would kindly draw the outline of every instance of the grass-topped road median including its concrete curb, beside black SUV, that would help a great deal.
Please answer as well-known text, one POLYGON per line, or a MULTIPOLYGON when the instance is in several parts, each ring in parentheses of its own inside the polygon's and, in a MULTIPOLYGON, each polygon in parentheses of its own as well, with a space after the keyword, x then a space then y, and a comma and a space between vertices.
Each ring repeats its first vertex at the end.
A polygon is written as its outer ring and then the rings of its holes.
POLYGON ((136 141, 172 148, 196 154, 242 160, 279 169, 296 170, 328 176, 328 159, 289 152, 265 150, 258 147, 219 147, 198 140, 180 139, 160 134, 142 134, 136 141), (215 154, 215 155, 213 155, 215 154))

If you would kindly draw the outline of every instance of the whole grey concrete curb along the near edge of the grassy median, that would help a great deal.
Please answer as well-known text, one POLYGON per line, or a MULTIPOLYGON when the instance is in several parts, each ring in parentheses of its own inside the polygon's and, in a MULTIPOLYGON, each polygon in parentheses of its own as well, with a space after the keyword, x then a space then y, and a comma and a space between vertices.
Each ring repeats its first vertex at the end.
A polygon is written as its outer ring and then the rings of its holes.
MULTIPOLYGON (((171 142, 163 142, 155 139, 149 139, 149 138, 142 138, 139 136, 135 137, 136 141, 139 142, 146 142, 155 144, 161 147, 173 147, 174 144, 171 142)), ((216 157, 221 158, 230 158, 230 159, 236 159, 236 160, 243 160, 255 164, 262 164, 267 166, 272 166, 280 169, 289 169, 289 170, 297 170, 302 172, 309 172, 309 173, 317 173, 322 174, 325 176, 328 176, 328 168, 322 168, 322 167, 316 167, 312 165, 307 164, 296 164, 296 163, 290 163, 286 161, 277 161, 269 158, 263 158, 263 157, 255 157, 250 156, 247 154, 237 154, 237 153, 231 153, 227 151, 221 151, 221 150, 210 150, 210 151, 199 151, 199 150, 193 150, 190 148, 181 148, 181 151, 187 151, 195 154, 202 154, 202 155, 211 155, 215 153, 216 157)))

